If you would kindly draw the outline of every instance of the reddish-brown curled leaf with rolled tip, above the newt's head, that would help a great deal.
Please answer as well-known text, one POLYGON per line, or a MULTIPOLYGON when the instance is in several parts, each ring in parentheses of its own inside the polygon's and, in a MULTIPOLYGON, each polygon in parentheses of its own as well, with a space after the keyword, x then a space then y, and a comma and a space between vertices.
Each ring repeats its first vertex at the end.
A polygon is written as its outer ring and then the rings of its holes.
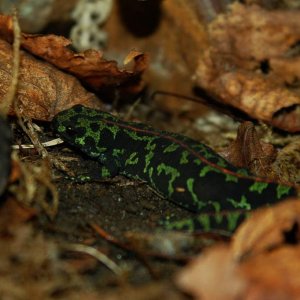
MULTIPOLYGON (((12 21, 9 16, 0 15, 0 37, 11 42, 12 21)), ((120 70, 115 61, 106 61, 102 52, 87 50, 75 53, 68 46, 71 41, 63 36, 22 34, 21 46, 61 70, 67 71, 94 90, 103 87, 117 87, 140 78, 148 65, 148 57, 136 50, 129 53, 127 63, 134 60, 133 70, 120 70)))

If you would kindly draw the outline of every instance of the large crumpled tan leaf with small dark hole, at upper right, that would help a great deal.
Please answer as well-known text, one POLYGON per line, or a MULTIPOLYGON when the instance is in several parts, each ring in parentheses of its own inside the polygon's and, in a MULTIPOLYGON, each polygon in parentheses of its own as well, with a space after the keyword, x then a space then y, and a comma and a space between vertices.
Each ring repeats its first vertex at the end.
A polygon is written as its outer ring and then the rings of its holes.
MULTIPOLYGON (((300 39, 299 20, 298 11, 233 4, 209 26, 211 45, 199 59, 197 84, 255 119, 300 131, 300 96, 285 86, 284 75, 272 73, 272 62, 282 61, 300 39)), ((291 60, 298 61, 288 58, 288 64, 291 60)), ((297 85, 300 74, 293 75, 297 85)))

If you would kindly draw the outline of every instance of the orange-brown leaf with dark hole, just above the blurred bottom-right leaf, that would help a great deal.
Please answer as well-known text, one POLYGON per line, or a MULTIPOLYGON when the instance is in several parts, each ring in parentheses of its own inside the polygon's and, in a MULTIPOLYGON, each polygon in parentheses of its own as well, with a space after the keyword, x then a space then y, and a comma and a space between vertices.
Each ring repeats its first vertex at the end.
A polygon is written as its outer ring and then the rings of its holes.
POLYGON ((291 239, 299 242, 299 228, 299 198, 261 208, 253 212, 236 231, 232 243, 233 255, 240 259, 282 246, 287 242, 288 233, 291 239))

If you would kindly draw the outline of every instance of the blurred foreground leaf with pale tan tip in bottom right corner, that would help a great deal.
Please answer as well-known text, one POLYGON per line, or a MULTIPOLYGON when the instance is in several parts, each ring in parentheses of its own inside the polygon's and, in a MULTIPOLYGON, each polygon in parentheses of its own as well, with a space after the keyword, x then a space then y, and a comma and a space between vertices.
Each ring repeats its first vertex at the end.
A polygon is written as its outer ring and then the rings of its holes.
POLYGON ((176 278, 201 300, 299 299, 300 246, 285 246, 239 262, 229 246, 208 249, 176 278))

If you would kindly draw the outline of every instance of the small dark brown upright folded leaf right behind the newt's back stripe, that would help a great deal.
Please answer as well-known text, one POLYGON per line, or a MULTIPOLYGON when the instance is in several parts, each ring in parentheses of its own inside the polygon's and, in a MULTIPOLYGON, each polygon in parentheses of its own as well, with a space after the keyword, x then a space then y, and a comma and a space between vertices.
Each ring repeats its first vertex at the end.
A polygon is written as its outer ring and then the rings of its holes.
POLYGON ((233 165, 253 174, 272 177, 271 163, 276 157, 273 145, 260 141, 253 123, 242 123, 236 139, 226 149, 225 158, 233 165))

